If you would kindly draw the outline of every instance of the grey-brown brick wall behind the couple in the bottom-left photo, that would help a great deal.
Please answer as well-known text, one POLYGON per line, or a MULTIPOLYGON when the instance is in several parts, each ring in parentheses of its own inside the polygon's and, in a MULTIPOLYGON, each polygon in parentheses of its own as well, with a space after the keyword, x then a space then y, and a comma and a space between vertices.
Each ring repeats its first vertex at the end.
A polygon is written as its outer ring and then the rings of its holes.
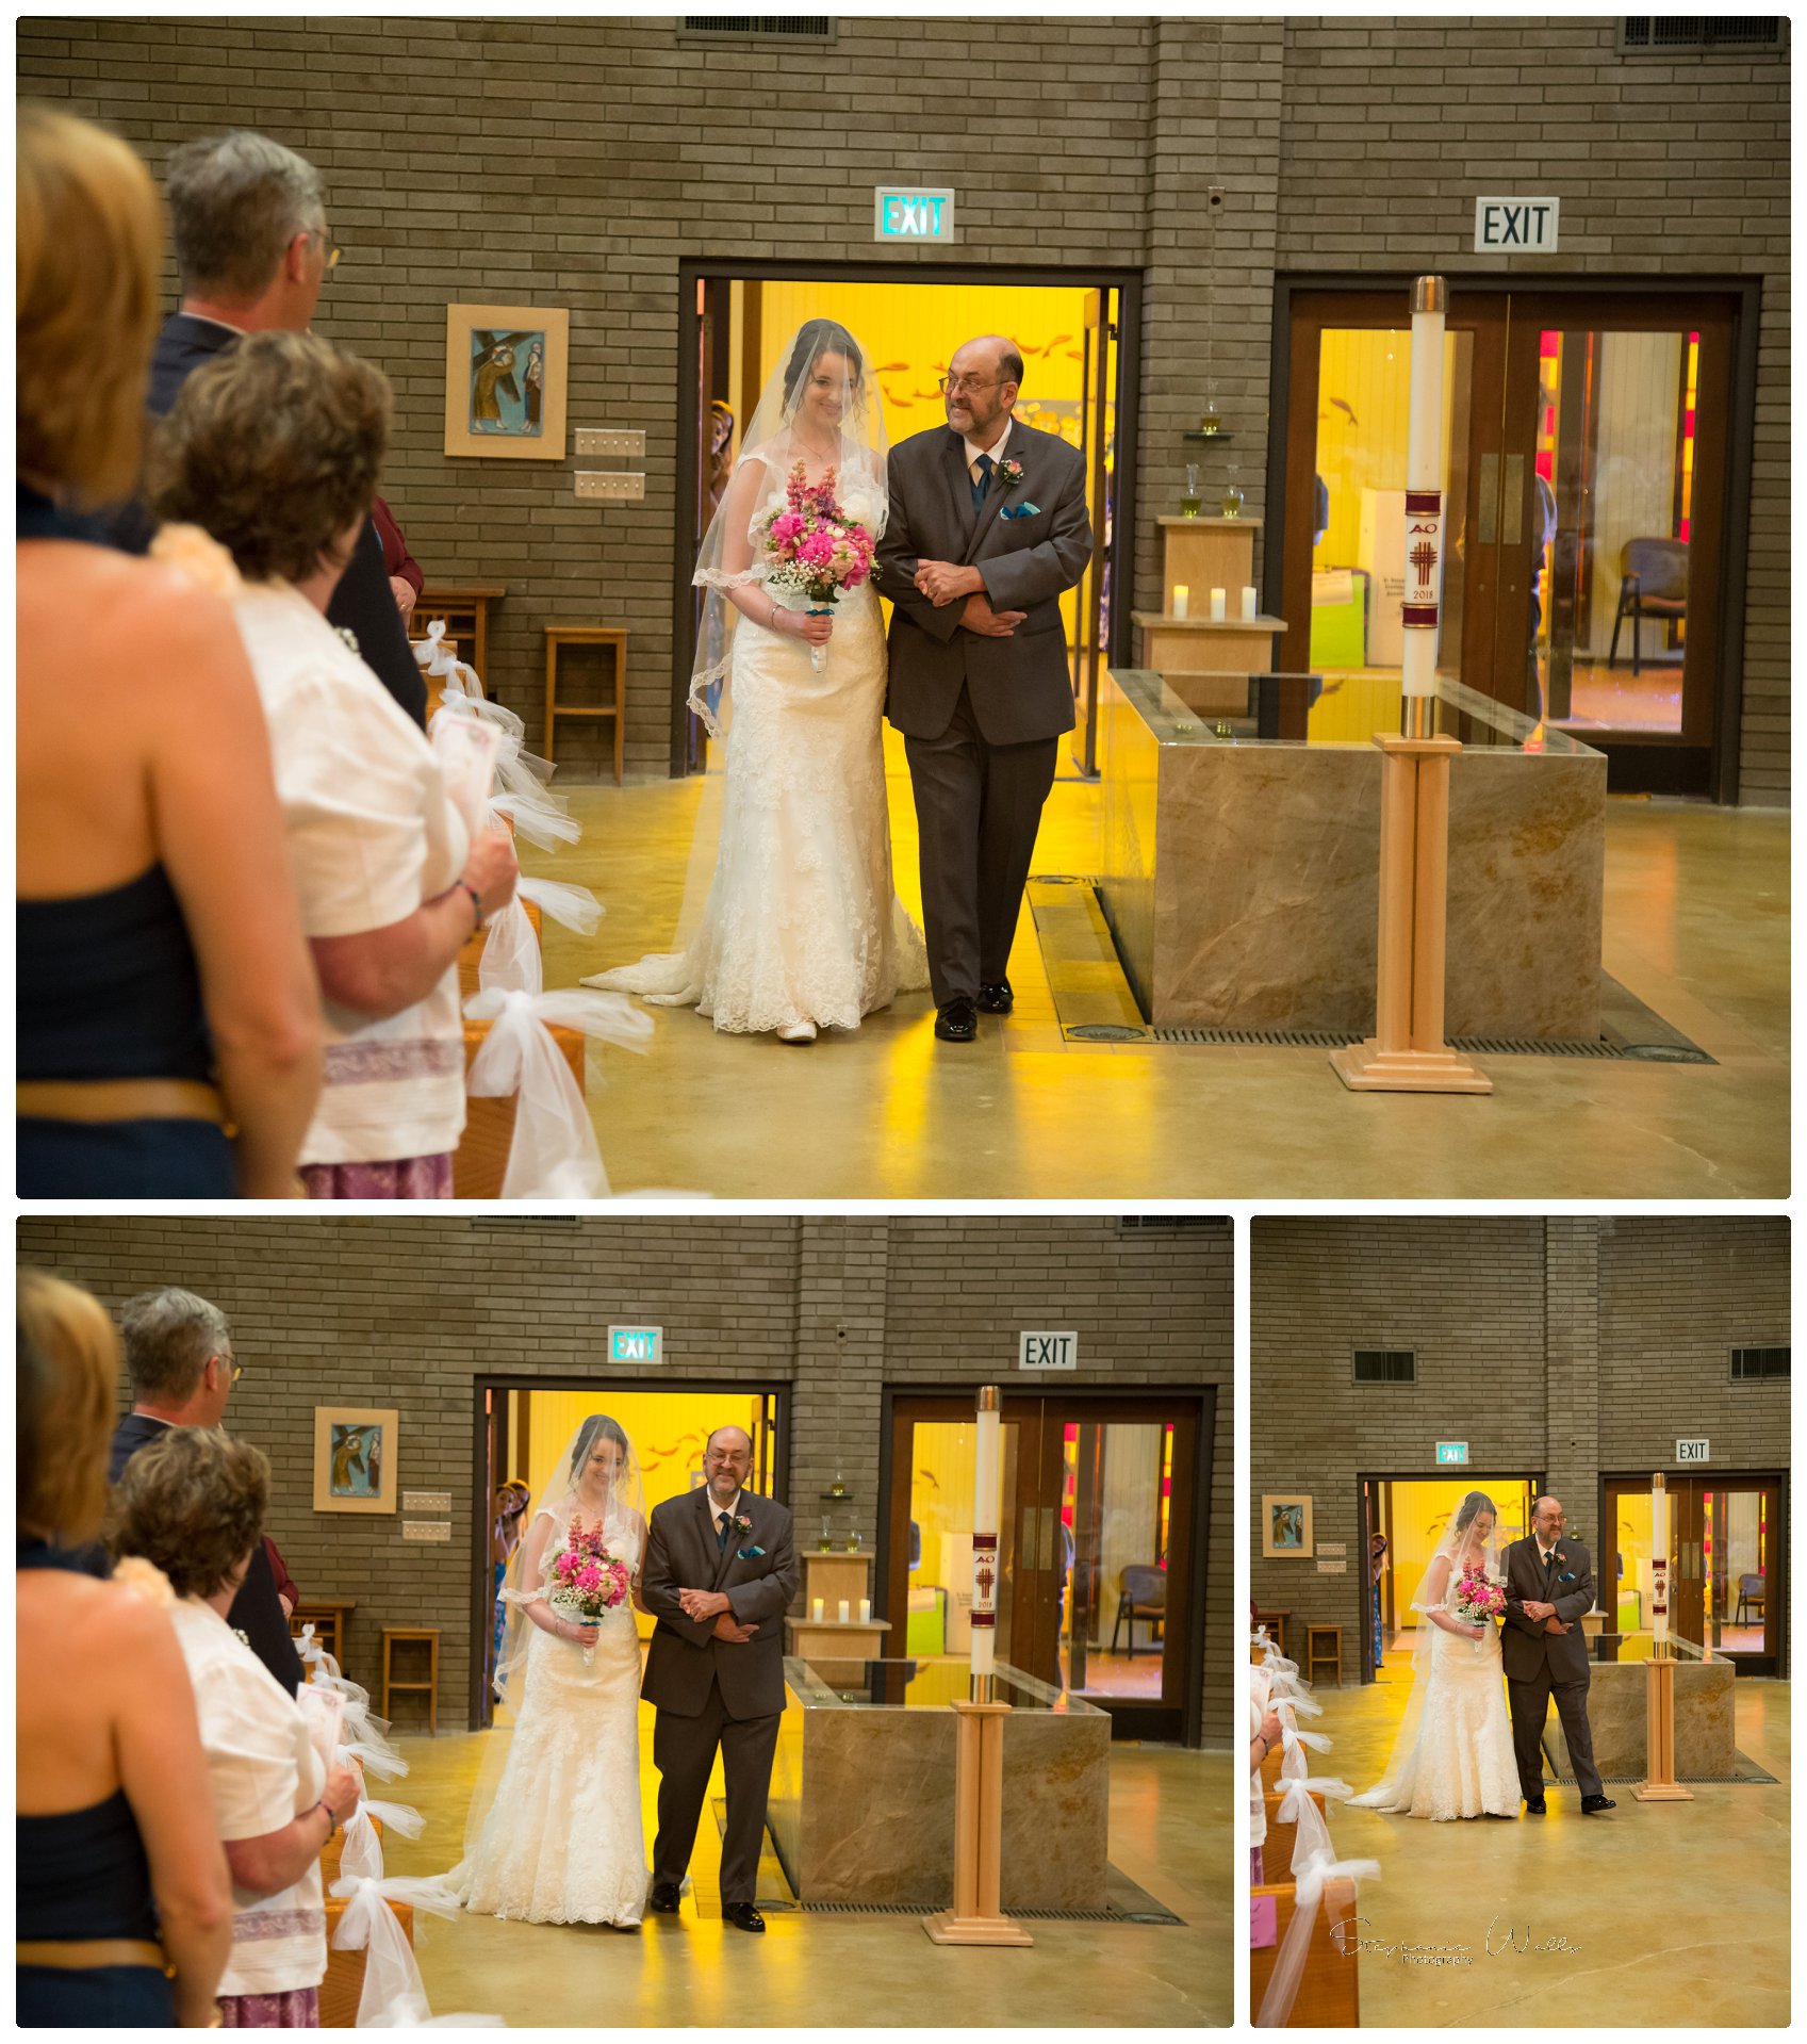
MULTIPOLYGON (((789 1498, 803 1525, 836 1474, 869 1545, 887 1384, 1014 1378, 1022 1327, 1077 1327, 1073 1386, 1216 1386, 1206 1553, 1204 1737, 1224 1741, 1231 1605, 1231 1230, 1124 1235, 1112 1218, 724 1220, 39 1220, 27 1263, 108 1306, 184 1284, 233 1322, 233 1431, 274 1464, 270 1533, 305 1590, 360 1598, 350 1674, 378 1680, 382 1625, 442 1629, 439 1701, 470 1676, 478 1376, 599 1367, 603 1329, 666 1333, 660 1384, 791 1388, 789 1498), (395 1406, 401 1484, 452 1494, 452 1543, 401 1541, 401 1515, 315 1513, 313 1410, 395 1406)), ((127 1398, 121 1386, 123 1402, 127 1398)))

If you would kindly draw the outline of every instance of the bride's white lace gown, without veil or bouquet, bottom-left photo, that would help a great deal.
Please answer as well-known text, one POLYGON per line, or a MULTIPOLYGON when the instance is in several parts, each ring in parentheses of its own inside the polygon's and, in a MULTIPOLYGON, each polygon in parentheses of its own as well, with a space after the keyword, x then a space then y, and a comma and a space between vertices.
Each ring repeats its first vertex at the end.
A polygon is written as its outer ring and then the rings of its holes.
MULTIPOLYGON (((564 1545, 564 1519, 548 1553, 564 1545)), ((640 1568, 640 1537, 609 1529, 640 1568)), ((476 1844, 448 1887, 478 1915, 527 1923, 638 1923, 646 1907, 640 1823, 640 1639, 632 1605, 603 1615, 583 1647, 534 1627, 521 1711, 476 1844)), ((495 1731, 493 1737, 503 1737, 495 1731)))

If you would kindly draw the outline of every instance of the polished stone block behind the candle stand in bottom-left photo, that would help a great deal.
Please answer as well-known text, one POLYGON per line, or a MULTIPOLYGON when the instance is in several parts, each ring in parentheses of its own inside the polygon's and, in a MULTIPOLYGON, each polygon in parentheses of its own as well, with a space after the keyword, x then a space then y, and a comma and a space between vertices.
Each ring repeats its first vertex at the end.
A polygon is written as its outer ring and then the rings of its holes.
MULTIPOLYGON (((785 1662, 771 1827, 799 1901, 944 1909, 965 1660, 785 1662)), ((1004 1909, 1102 1909, 1110 1719, 1000 1664, 1004 1909), (1059 1709, 1055 1709, 1059 1705, 1059 1709)))

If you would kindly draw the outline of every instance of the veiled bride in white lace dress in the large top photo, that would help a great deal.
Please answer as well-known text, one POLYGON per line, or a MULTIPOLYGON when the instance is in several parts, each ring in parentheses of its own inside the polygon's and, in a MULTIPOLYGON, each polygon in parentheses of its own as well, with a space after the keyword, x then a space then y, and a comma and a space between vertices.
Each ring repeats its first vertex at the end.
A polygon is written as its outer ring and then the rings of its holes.
POLYGON ((785 1042, 859 1028, 928 985, 922 932, 891 887, 879 599, 865 580, 832 611, 807 609, 764 542, 799 466, 807 486, 832 476, 840 509, 875 540, 883 531, 885 433, 865 364, 834 321, 797 331, 697 562, 691 707, 728 744, 701 922, 679 930, 681 950, 583 981, 785 1042))

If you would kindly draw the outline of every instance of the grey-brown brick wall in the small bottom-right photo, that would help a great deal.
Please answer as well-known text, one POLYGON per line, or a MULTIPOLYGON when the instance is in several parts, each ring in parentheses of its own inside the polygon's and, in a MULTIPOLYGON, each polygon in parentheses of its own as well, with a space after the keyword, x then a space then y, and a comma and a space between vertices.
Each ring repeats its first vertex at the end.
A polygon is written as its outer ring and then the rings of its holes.
MULTIPOLYGON (((1789 1341, 1789 1222, 1699 1218, 1370 1218, 1251 1224, 1251 1590, 1343 1627, 1359 1676, 1357 1478, 1541 1470, 1598 1549, 1601 1474, 1789 1466, 1789 1384, 1731 1384, 1733 1343, 1789 1341), (1355 1384, 1351 1349, 1417 1351, 1415 1384, 1355 1384), (1449 1474, 1449 1472, 1441 1472, 1449 1474), (1306 1492, 1345 1576, 1263 1560, 1261 1494, 1306 1492)), ((1406 1592, 1410 1594, 1410 1586, 1406 1592)), ((1288 1631, 1288 1643, 1294 1635, 1288 1631)))

